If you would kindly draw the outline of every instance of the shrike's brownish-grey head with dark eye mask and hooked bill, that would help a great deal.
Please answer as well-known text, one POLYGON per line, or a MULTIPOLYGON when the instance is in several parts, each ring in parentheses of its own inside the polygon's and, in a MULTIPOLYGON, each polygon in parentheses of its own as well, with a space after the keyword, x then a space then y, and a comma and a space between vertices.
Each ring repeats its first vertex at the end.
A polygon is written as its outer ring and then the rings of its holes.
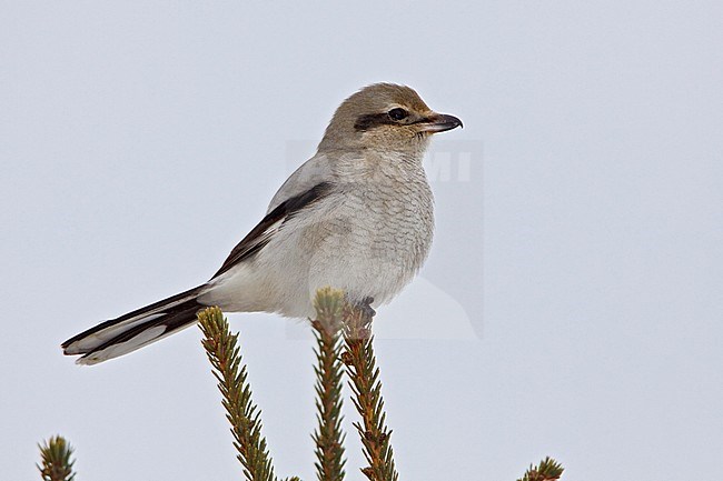
POLYGON ((429 109, 409 87, 375 83, 346 99, 334 113, 319 151, 336 149, 423 152, 429 137, 462 127, 429 109))

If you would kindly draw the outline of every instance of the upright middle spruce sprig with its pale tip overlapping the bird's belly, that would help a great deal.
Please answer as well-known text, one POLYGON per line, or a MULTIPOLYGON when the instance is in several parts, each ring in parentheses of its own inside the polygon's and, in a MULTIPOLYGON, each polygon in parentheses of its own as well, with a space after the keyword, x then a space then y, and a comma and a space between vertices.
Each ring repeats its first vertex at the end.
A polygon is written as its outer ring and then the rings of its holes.
POLYGON ((344 292, 319 289, 314 300, 316 320, 316 410, 318 428, 311 438, 316 443, 316 473, 319 481, 344 480, 344 439, 341 431, 341 314, 344 292))

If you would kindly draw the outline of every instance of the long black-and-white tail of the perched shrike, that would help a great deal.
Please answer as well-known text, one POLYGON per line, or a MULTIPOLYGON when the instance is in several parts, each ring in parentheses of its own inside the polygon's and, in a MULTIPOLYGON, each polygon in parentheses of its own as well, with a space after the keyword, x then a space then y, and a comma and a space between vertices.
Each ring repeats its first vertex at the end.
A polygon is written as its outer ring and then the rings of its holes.
POLYGON ((196 322, 196 313, 206 307, 196 301, 200 291, 194 288, 101 322, 63 342, 62 352, 82 354, 78 364, 97 364, 156 342, 196 322))

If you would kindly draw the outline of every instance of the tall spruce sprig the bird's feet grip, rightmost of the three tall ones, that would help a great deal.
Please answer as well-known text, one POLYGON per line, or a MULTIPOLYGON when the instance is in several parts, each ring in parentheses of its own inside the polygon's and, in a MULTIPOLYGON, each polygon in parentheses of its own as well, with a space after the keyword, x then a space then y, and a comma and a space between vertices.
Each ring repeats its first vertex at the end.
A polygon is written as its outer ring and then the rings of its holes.
POLYGON ((369 307, 345 305, 344 342, 341 360, 347 365, 349 385, 354 393, 354 405, 361 415, 361 422, 354 423, 364 448, 368 467, 361 472, 369 481, 397 481, 394 453, 389 437, 392 430, 386 427, 384 400, 379 368, 376 367, 372 335, 372 317, 369 307))

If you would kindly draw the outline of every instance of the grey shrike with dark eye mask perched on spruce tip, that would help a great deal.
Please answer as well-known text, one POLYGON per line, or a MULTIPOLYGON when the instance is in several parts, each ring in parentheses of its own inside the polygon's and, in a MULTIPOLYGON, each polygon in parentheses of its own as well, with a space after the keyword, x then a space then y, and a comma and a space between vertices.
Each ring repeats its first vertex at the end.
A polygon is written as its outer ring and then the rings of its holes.
POLYGON ((194 325, 210 305, 313 318, 313 295, 324 287, 369 309, 389 302, 432 244, 425 150, 434 133, 457 127, 457 117, 433 111, 409 87, 361 88, 210 280, 99 323, 65 341, 63 353, 83 365, 118 358, 194 325))

